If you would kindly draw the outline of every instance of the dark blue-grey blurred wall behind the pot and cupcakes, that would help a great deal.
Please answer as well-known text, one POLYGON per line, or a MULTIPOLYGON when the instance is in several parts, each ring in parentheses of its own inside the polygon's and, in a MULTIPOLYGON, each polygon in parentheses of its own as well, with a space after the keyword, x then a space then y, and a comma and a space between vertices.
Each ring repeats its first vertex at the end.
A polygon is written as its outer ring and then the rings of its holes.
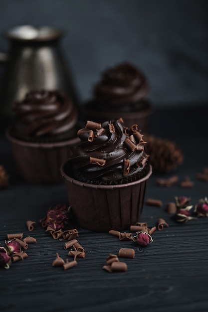
POLYGON ((0 33, 19 24, 65 29, 82 99, 106 67, 128 60, 145 72, 156 106, 208 103, 207 0, 0 0, 0 33))

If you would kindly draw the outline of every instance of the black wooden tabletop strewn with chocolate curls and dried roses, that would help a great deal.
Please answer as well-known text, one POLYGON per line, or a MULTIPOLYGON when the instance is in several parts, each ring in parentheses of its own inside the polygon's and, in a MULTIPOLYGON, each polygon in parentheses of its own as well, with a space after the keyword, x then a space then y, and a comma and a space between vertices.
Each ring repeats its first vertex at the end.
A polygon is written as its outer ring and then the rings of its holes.
POLYGON ((154 242, 139 248, 108 233, 77 227, 78 241, 86 257, 77 258, 77 266, 64 271, 52 267, 57 252, 64 260, 69 258, 64 242, 47 234, 39 220, 49 207, 67 204, 65 186, 24 184, 1 131, 0 164, 10 176, 10 186, 0 189, 0 246, 7 233, 17 232, 35 237, 37 243, 29 245, 24 261, 12 264, 8 270, 0 268, 0 311, 208 311, 208 218, 180 224, 165 211, 167 202, 174 201, 175 196, 190 196, 194 205, 208 196, 208 182, 196 179, 197 172, 208 166, 208 109, 196 105, 155 110, 150 132, 174 141, 185 155, 184 163, 174 172, 153 174, 147 185, 146 198, 161 199, 163 206, 145 204, 140 221, 152 227, 158 218, 164 218, 169 228, 155 231, 154 242), (181 188, 177 183, 167 188, 156 184, 158 177, 172 175, 180 179, 188 175, 195 186, 181 188), (26 220, 36 221, 32 232, 27 230, 26 220), (102 270, 109 253, 118 255, 122 247, 135 250, 135 259, 120 259, 126 262, 128 270, 102 270))

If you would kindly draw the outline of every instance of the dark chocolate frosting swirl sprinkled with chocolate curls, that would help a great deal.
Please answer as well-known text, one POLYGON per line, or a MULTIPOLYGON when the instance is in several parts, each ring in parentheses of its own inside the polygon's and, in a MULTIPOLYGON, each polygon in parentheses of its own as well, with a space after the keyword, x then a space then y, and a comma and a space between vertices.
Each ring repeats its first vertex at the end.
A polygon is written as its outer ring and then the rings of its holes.
POLYGON ((123 120, 112 120, 101 125, 88 121, 78 131, 81 143, 73 148, 69 158, 75 178, 81 179, 81 173, 83 181, 118 184, 130 176, 138 179, 138 173, 140 178, 144 176, 141 173, 148 158, 144 152, 146 142, 137 125, 128 129, 122 123, 123 120))

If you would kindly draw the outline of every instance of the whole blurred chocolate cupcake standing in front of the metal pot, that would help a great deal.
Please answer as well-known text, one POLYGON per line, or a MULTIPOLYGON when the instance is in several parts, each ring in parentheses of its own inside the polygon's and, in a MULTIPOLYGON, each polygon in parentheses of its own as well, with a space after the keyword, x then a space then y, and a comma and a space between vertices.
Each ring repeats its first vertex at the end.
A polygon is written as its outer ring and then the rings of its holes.
POLYGON ((16 167, 28 183, 60 183, 60 166, 77 138, 77 111, 59 91, 31 91, 14 106, 15 121, 6 130, 16 167))

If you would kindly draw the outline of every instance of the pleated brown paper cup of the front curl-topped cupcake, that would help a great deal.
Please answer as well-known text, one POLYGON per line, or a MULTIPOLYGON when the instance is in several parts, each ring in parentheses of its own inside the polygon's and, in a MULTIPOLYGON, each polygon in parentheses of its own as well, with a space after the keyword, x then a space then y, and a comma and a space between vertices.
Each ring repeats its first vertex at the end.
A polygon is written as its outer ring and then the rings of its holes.
POLYGON ((69 206, 79 226, 98 232, 125 230, 135 224, 144 203, 146 183, 142 179, 120 185, 96 185, 80 182, 66 174, 67 161, 61 166, 69 206))

